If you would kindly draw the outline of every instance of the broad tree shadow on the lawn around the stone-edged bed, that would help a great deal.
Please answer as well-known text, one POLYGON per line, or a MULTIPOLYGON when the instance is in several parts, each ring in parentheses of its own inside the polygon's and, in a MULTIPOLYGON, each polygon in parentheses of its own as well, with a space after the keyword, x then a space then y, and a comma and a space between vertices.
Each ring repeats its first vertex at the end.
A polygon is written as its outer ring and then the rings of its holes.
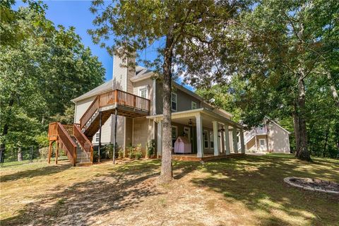
MULTIPOLYGON (((334 167, 338 172, 338 165, 334 167)), ((245 156, 207 162, 203 177, 191 181, 223 194, 228 202, 240 201, 256 215, 260 225, 335 225, 339 197, 287 186, 285 177, 339 180, 333 167, 322 161, 300 162, 289 155, 245 156), (207 175, 207 176, 206 176, 207 175)))

